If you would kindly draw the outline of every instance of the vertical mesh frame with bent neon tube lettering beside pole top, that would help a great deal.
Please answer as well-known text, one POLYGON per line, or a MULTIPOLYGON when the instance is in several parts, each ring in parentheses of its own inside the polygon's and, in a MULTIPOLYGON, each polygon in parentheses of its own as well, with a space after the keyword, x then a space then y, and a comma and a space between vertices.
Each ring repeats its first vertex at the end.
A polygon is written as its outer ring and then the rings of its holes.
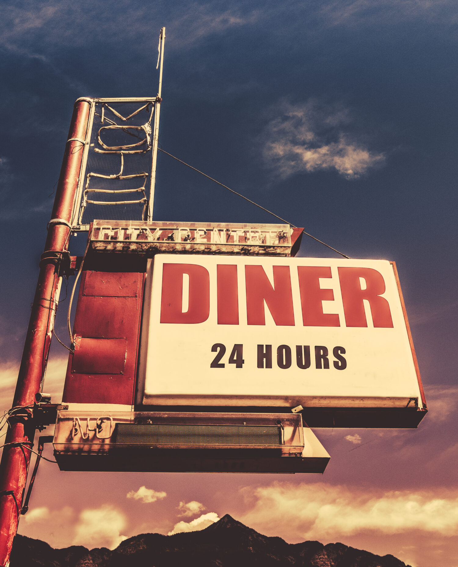
POLYGON ((155 100, 95 102, 74 225, 147 219, 155 100))

